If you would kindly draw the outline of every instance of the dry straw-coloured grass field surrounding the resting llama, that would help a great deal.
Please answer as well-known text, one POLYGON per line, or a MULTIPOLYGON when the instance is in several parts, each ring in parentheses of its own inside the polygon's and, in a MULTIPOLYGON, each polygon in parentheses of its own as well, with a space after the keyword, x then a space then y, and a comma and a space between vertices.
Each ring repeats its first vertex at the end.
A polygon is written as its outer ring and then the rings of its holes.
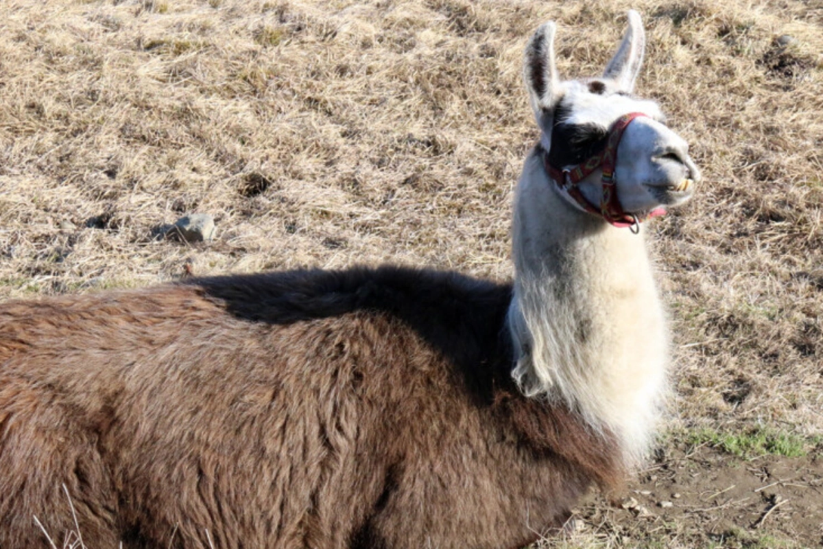
POLYGON ((357 263, 510 277, 523 45, 553 19, 561 73, 597 74, 630 7, 638 92, 704 173, 649 223, 672 414, 638 505, 593 495, 546 546, 820 547, 821 0, 7 0, 0 299, 357 263), (215 240, 162 237, 188 212, 215 240))

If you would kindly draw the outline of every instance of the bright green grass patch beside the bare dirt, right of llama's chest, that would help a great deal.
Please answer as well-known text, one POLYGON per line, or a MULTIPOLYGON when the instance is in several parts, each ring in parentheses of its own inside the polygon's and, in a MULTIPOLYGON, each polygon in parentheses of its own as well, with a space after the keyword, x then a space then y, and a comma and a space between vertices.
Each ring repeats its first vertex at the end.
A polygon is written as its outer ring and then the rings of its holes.
POLYGON ((689 444, 709 444, 728 454, 740 458, 753 458, 761 455, 779 455, 787 458, 799 458, 808 453, 808 449, 819 441, 793 435, 782 430, 758 427, 742 432, 718 432, 704 428, 691 431, 686 437, 689 444))

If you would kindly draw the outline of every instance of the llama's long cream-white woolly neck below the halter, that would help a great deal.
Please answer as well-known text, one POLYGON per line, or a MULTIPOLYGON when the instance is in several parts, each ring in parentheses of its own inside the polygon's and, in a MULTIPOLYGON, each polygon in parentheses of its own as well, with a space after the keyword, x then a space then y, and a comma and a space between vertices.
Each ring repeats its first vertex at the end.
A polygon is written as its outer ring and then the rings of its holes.
POLYGON ((580 212, 532 153, 514 206, 513 375, 643 457, 665 387, 667 330, 643 232, 580 212))

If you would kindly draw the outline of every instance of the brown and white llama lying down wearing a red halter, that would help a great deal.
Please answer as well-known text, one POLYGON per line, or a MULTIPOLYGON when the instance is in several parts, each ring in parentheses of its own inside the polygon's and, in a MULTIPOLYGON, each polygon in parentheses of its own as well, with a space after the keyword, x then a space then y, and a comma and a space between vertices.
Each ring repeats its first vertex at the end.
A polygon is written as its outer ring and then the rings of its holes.
POLYGON ((514 284, 303 270, 0 305, 0 547, 49 547, 35 516, 95 548, 522 547, 619 486, 665 385, 642 221, 700 175, 630 95, 637 13, 601 78, 560 81, 554 35, 525 58, 514 284))

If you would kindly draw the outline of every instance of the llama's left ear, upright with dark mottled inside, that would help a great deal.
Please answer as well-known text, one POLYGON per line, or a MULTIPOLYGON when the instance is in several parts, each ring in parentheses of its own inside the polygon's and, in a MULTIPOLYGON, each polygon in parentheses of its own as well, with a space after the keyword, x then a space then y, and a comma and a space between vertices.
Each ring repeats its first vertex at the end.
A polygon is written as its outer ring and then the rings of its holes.
POLYGON ((550 133, 551 111, 560 99, 560 79, 555 65, 555 30, 553 21, 543 23, 535 30, 526 46, 523 63, 523 77, 534 118, 544 132, 550 133))

